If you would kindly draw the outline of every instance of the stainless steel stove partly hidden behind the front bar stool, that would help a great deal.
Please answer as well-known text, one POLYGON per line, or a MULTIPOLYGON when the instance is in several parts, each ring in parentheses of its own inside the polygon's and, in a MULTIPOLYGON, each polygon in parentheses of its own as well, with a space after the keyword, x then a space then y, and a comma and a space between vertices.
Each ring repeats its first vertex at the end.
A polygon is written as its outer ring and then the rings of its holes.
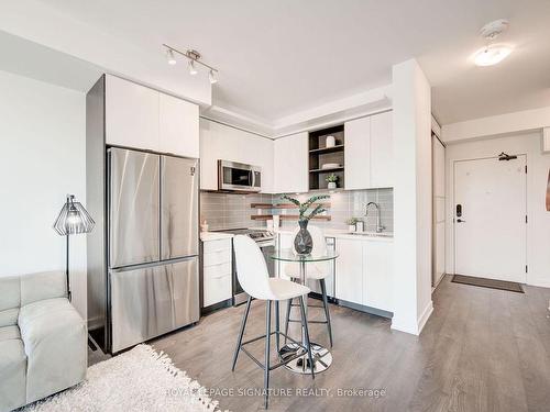
MULTIPOLYGON (((275 276, 275 261, 270 257, 275 252, 275 233, 262 229, 229 229, 224 231, 217 231, 223 233, 231 233, 234 235, 246 235, 250 236, 262 250, 265 263, 267 265, 267 271, 270 276, 275 276)), ((237 276, 237 266, 233 252, 233 305, 238 305, 246 302, 249 296, 242 289, 241 283, 239 283, 239 278, 237 276)))

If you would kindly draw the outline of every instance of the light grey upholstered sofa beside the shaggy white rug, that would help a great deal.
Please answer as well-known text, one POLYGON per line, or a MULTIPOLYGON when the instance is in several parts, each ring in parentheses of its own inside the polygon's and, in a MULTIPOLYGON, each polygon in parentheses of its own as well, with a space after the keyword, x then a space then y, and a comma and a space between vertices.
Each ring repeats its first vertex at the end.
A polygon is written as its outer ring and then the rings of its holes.
POLYGON ((0 277, 0 412, 82 381, 87 356, 63 271, 0 277))

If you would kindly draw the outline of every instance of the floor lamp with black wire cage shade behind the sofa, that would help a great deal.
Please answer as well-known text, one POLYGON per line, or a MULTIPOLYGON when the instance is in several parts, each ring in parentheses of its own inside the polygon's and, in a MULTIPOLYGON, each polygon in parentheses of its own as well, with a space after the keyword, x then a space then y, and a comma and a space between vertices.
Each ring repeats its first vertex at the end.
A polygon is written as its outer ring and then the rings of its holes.
POLYGON ((70 281, 68 272, 69 261, 69 236, 78 233, 89 233, 94 230, 96 222, 80 202, 75 201, 74 194, 67 194, 67 200, 63 205, 57 219, 54 222, 54 230, 66 238, 66 260, 65 276, 67 278, 67 298, 70 301, 70 281))

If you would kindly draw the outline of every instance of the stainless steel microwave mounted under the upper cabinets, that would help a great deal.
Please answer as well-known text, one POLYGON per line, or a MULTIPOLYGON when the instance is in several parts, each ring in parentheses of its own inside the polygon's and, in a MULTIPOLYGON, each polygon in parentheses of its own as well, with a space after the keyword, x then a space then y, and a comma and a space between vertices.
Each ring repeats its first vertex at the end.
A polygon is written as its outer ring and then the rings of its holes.
POLYGON ((218 190, 258 192, 262 168, 242 163, 218 160, 218 190))

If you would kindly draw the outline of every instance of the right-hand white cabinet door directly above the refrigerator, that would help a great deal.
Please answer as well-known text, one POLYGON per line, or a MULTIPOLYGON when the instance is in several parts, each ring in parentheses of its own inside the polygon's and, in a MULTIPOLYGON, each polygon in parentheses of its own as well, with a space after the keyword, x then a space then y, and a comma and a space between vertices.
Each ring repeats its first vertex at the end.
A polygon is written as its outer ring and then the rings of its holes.
POLYGON ((160 93, 160 152, 199 157, 199 107, 160 93))

